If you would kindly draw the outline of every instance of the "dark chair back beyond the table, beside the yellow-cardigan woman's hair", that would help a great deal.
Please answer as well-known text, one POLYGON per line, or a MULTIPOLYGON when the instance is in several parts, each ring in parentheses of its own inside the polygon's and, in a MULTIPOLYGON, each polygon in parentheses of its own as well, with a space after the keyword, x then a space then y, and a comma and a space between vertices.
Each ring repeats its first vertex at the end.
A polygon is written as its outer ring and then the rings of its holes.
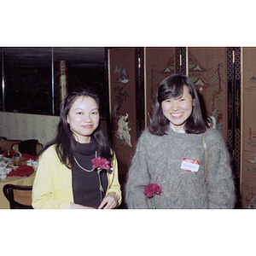
POLYGON ((43 148, 41 143, 38 143, 38 140, 26 140, 20 143, 14 143, 11 146, 11 149, 15 151, 16 154, 26 153, 37 155, 38 151, 43 148))

